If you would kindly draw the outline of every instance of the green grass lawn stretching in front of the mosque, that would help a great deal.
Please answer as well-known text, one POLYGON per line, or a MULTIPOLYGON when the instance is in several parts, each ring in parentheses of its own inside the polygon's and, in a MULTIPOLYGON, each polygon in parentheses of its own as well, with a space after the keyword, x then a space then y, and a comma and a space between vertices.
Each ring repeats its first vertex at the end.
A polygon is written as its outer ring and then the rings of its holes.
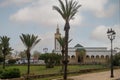
MULTIPOLYGON (((69 65, 68 71, 79 71, 81 69, 91 69, 91 68, 103 68, 103 65, 69 65)), ((2 68, 2 65, 0 65, 2 68)), ((6 66, 6 68, 18 68, 20 69, 21 74, 26 74, 27 72, 27 65, 20 65, 20 66, 6 66)), ((54 68, 46 68, 45 66, 30 66, 30 73, 31 74, 52 74, 52 73, 60 73, 61 66, 55 66, 54 68)))

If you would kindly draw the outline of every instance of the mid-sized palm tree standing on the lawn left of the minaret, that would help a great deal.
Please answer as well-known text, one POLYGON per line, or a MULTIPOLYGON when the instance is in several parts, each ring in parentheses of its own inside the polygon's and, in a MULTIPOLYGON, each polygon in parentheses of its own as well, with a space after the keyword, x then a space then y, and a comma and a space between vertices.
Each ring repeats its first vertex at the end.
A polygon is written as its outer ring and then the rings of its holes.
POLYGON ((20 36, 21 41, 26 47, 26 54, 27 54, 27 60, 28 60, 28 70, 27 74, 29 75, 30 73, 30 51, 31 49, 40 41, 40 39, 37 39, 38 36, 34 36, 33 34, 22 34, 20 36))

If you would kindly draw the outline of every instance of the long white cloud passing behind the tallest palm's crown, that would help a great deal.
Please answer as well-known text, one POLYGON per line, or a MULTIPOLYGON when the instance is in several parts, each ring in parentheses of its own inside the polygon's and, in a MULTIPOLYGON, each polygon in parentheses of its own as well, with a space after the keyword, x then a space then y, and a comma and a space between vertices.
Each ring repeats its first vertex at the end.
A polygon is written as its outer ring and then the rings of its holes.
MULTIPOLYGON (((63 24, 62 17, 52 9, 53 5, 57 5, 57 1, 44 1, 39 0, 33 2, 32 6, 24 7, 10 16, 10 20, 17 22, 35 22, 44 26, 53 26, 57 23, 63 24), (44 5, 43 5, 44 4, 44 5)), ((76 15, 74 20, 71 20, 72 25, 79 25, 82 16, 76 15)))

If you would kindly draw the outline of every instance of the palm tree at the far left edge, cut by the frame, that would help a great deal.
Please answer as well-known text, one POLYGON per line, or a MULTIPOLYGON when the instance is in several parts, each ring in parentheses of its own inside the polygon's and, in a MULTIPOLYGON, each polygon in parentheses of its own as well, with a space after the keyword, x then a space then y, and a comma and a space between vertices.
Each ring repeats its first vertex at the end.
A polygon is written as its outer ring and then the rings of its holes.
POLYGON ((1 52, 3 54, 3 69, 5 69, 5 60, 6 60, 6 55, 10 53, 13 49, 9 47, 9 40, 10 38, 7 36, 0 37, 0 42, 1 42, 1 52))

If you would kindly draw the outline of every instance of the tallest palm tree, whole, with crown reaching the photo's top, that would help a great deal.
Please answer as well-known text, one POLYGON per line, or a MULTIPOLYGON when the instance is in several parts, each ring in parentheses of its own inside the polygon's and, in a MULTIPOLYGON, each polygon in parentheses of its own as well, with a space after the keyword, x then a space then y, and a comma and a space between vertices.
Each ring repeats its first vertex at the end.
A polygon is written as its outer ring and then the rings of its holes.
POLYGON ((53 6, 53 9, 55 9, 65 20, 65 71, 64 71, 64 80, 67 79, 67 64, 68 64, 68 37, 69 37, 69 21, 73 19, 74 15, 78 12, 78 9, 81 5, 78 4, 77 1, 73 0, 65 0, 65 3, 62 2, 62 0, 59 0, 60 8, 58 6, 53 6))

